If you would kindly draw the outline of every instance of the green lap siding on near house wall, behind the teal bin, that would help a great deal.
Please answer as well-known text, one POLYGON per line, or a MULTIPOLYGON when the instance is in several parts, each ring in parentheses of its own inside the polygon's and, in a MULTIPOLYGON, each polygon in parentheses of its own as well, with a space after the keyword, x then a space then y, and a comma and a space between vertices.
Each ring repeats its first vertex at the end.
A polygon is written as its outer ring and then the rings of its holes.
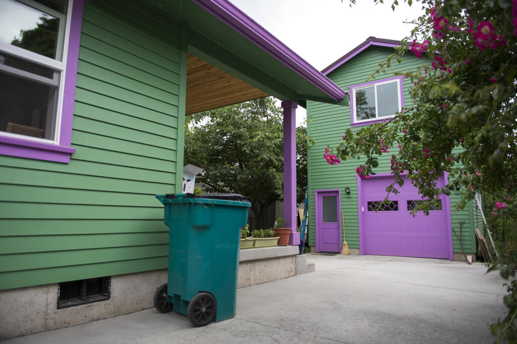
POLYGON ((179 28, 123 6, 85 4, 70 163, 0 157, 0 289, 167 266, 179 28))

